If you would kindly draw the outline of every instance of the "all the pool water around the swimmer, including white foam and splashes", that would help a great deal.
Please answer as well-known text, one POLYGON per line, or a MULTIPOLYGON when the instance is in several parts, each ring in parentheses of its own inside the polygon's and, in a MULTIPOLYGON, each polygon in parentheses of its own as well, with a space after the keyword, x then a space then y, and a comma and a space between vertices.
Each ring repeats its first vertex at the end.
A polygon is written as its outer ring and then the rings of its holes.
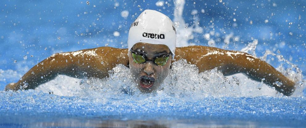
POLYGON ((304 1, 5 1, 0 89, 53 53, 127 48, 145 9, 173 20, 177 45, 248 52, 296 81, 292 96, 239 73, 197 73, 180 60, 143 94, 117 65, 104 79, 59 75, 35 90, 0 91, 0 127, 305 127, 304 1))

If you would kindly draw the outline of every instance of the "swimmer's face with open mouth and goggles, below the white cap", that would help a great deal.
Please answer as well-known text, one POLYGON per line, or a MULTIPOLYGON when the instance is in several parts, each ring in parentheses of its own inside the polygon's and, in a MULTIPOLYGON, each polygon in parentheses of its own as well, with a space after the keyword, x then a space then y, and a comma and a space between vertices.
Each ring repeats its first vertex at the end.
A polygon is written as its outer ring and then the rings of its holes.
POLYGON ((130 70, 137 87, 142 93, 155 91, 168 75, 172 60, 170 49, 162 44, 136 43, 131 50, 135 52, 129 54, 130 70), (148 61, 139 63, 142 62, 139 60, 143 60, 142 56, 148 61), (158 63, 166 59, 165 63, 158 63))

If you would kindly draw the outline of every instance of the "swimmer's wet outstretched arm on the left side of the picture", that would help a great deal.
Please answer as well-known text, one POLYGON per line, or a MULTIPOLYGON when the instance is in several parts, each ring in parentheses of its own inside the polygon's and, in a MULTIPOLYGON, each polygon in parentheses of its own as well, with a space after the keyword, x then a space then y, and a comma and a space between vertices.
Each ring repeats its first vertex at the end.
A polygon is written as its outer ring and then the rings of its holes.
POLYGON ((57 53, 36 64, 17 83, 6 85, 5 90, 35 89, 59 74, 104 78, 116 64, 127 65, 127 62, 127 50, 111 47, 57 53))

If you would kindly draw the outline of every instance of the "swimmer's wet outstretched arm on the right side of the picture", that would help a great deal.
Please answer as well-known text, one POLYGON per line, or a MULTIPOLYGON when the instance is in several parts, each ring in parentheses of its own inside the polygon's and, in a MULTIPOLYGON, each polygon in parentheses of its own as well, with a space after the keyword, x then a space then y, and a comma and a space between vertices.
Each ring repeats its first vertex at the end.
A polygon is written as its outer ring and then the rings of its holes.
POLYGON ((181 58, 187 58, 187 61, 195 64, 200 72, 217 68, 225 76, 244 73, 255 81, 263 81, 275 87, 277 91, 286 96, 290 96, 295 89, 295 82, 278 72, 270 64, 247 53, 205 46, 183 47, 178 51, 181 52, 178 59, 182 55, 181 58), (282 85, 277 85, 277 83, 282 83, 282 85))

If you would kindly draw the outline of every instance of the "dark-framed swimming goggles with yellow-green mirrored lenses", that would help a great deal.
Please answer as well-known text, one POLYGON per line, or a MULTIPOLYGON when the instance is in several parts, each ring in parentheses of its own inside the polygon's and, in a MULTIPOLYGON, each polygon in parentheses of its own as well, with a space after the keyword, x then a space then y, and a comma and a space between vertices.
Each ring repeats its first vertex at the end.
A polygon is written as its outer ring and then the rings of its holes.
MULTIPOLYGON (((132 58, 133 58, 135 63, 143 64, 143 63, 149 61, 147 56, 143 55, 142 53, 137 52, 137 51, 133 51, 133 50, 131 50, 131 52, 132 52, 132 58)), ((158 65, 158 66, 164 66, 167 63, 167 61, 169 59, 169 56, 171 54, 172 53, 169 53, 169 54, 166 54, 166 55, 156 56, 153 60, 150 60, 150 61, 153 61, 153 63, 158 65)))

